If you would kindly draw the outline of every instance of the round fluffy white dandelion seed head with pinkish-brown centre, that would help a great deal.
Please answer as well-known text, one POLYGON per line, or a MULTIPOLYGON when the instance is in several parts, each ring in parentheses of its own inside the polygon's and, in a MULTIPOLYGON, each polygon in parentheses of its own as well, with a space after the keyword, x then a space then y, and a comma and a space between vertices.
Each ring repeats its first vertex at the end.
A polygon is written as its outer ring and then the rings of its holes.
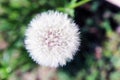
POLYGON ((66 64, 80 46, 79 28, 67 14, 47 11, 35 16, 25 33, 25 47, 42 66, 66 64))

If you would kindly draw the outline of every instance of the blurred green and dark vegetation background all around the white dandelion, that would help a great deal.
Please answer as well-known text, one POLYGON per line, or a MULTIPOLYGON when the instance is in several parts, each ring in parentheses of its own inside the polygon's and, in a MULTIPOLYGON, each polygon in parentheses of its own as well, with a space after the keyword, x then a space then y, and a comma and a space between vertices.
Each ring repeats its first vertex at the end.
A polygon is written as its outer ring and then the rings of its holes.
POLYGON ((105 0, 0 0, 0 80, 120 80, 120 8, 105 0), (28 23, 58 10, 80 26, 81 47, 58 69, 41 67, 24 47, 28 23))

